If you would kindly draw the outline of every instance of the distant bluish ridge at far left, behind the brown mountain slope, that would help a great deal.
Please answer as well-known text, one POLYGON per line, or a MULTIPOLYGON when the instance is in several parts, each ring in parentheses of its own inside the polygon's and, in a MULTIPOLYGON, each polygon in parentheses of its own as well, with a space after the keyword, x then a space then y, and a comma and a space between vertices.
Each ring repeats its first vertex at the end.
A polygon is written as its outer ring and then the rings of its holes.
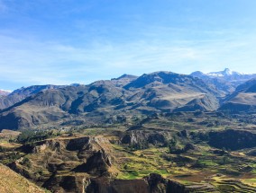
POLYGON ((58 85, 33 85, 29 87, 22 87, 20 89, 11 92, 5 97, 0 97, 0 110, 4 110, 5 108, 11 107, 15 103, 19 101, 23 101, 23 99, 31 96, 32 94, 36 94, 38 92, 48 90, 48 89, 59 89, 64 86, 58 85))

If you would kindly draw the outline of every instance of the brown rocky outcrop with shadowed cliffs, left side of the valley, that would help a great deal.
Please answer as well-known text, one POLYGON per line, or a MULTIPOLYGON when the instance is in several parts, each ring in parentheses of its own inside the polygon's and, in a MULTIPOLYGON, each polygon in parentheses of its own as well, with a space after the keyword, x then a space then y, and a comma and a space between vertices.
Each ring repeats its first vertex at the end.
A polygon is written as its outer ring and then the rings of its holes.
POLYGON ((18 150, 29 155, 12 162, 10 167, 53 192, 82 192, 83 181, 88 177, 109 177, 119 172, 110 156, 113 148, 101 136, 47 139, 18 150))

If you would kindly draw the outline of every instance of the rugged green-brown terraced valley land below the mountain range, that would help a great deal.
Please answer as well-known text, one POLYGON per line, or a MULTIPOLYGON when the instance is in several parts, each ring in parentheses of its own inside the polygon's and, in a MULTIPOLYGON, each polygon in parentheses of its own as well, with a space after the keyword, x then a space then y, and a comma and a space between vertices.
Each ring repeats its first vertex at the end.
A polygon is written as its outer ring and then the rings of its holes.
POLYGON ((27 132, 19 144, 2 145, 0 161, 53 192, 256 189, 255 115, 160 113, 123 124, 27 132))

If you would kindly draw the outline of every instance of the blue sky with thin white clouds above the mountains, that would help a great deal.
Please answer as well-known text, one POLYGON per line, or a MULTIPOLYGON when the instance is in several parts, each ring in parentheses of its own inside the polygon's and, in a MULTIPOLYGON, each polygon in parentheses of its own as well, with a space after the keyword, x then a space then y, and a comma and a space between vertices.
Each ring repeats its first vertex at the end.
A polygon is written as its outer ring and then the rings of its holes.
POLYGON ((255 0, 0 0, 0 89, 256 73, 255 0))

